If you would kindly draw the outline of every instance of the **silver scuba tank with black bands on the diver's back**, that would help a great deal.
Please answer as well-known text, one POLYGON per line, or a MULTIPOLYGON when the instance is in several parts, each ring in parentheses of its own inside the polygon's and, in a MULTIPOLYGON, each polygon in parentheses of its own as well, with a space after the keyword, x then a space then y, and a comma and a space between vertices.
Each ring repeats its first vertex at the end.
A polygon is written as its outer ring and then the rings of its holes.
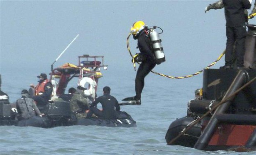
POLYGON ((164 49, 161 44, 162 40, 160 39, 157 31, 155 31, 154 29, 156 29, 156 26, 150 28, 150 41, 153 47, 154 56, 156 57, 159 63, 162 63, 165 61, 164 49))

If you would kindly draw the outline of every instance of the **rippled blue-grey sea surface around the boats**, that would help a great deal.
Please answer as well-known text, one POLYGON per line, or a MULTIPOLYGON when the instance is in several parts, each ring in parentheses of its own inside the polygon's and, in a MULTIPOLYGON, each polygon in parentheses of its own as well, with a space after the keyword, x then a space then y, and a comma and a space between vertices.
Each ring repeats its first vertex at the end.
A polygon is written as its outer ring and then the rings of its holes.
MULTIPOLYGON (((15 73, 1 68, 1 90, 10 102, 20 97, 30 83, 36 84, 40 71, 17 69, 15 73), (15 74, 15 75, 14 75, 15 74), (19 76, 17 76, 19 75, 19 76)), ((98 95, 104 86, 118 101, 135 95, 135 72, 116 75, 104 71, 99 79, 98 95)), ((73 83, 75 87, 76 82, 73 83)), ((70 86, 68 86, 70 87, 70 86)), ((136 121, 133 128, 100 126, 61 126, 55 128, 0 126, 1 155, 253 155, 256 152, 201 151, 178 145, 166 145, 165 134, 172 121, 186 116, 187 102, 194 98, 194 90, 202 87, 202 74, 188 79, 168 79, 150 73, 145 79, 142 105, 121 106, 136 121)))

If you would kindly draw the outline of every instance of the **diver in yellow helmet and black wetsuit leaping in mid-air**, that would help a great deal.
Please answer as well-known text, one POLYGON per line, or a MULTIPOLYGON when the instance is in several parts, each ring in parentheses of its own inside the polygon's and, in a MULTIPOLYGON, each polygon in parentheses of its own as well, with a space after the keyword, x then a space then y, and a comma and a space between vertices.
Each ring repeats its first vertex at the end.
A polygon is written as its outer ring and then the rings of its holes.
POLYGON ((156 66, 157 60, 153 54, 149 32, 143 21, 137 21, 132 25, 131 33, 134 39, 138 40, 139 56, 136 61, 141 62, 135 78, 136 96, 128 97, 122 101, 135 101, 135 104, 141 104, 141 93, 144 87, 144 79, 147 74, 156 66))

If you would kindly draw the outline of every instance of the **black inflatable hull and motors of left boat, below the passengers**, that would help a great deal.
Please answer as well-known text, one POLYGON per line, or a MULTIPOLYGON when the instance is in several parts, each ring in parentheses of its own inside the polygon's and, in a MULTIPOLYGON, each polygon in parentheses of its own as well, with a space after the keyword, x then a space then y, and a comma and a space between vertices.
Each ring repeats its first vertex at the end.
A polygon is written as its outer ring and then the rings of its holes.
POLYGON ((98 125, 107 127, 136 127, 136 121, 125 111, 116 111, 117 118, 82 118, 78 119, 70 111, 70 103, 65 101, 51 102, 47 114, 43 117, 35 116, 27 120, 17 120, 15 106, 0 102, 0 125, 34 126, 53 128, 70 125, 98 125), (3 113, 4 112, 4 113, 3 113))

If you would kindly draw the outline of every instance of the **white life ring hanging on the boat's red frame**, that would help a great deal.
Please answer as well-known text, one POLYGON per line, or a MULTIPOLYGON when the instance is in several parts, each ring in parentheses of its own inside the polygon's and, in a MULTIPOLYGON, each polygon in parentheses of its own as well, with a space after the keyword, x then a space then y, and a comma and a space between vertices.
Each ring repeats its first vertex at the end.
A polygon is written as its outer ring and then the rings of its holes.
POLYGON ((86 83, 89 83, 89 88, 87 88, 87 90, 84 90, 84 95, 91 96, 95 99, 95 87, 97 86, 97 83, 89 77, 83 77, 78 85, 86 88, 86 83))

